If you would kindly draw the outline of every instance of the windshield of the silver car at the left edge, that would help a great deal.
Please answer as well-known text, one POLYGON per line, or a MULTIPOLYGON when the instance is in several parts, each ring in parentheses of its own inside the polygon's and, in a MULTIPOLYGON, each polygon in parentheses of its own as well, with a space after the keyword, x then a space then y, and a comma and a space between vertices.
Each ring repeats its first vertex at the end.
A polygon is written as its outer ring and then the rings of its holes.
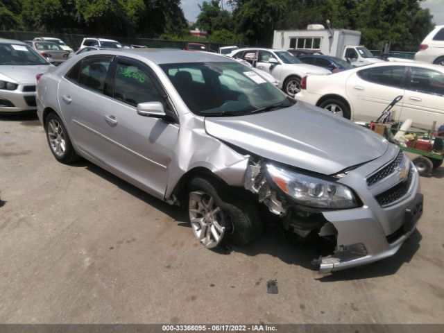
POLYGON ((49 65, 28 45, 0 44, 0 65, 49 65))

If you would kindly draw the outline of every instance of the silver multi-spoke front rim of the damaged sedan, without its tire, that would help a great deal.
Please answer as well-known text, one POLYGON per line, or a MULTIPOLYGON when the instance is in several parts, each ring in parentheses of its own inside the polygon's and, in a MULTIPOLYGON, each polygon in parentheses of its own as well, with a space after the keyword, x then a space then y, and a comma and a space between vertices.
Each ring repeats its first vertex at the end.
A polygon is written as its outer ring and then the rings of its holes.
POLYGON ((221 207, 210 194, 192 191, 189 194, 189 221, 197 239, 205 248, 214 248, 223 239, 225 226, 221 207))

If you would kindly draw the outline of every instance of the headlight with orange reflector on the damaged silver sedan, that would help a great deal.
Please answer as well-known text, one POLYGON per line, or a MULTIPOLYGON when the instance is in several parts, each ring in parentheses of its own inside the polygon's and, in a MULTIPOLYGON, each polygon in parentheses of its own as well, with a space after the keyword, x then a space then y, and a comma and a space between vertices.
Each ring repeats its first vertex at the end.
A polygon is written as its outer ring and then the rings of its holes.
POLYGON ((275 185, 301 205, 319 208, 357 207, 355 195, 345 185, 275 167, 273 164, 266 164, 266 169, 275 185))

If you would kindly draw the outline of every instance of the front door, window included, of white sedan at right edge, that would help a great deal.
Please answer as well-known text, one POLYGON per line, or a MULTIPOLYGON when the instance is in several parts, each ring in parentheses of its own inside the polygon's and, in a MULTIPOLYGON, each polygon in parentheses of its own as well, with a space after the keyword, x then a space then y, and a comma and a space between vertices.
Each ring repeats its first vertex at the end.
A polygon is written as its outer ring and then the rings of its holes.
POLYGON ((411 67, 400 121, 431 128, 444 123, 444 74, 433 69, 411 67))

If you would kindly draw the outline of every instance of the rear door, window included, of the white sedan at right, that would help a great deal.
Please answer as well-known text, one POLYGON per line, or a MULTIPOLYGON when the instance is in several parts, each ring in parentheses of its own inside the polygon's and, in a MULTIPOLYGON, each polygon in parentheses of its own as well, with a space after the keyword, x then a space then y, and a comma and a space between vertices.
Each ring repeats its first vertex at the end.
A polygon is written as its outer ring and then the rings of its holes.
MULTIPOLYGON (((379 66, 356 71, 346 83, 347 95, 352 103, 352 119, 376 120, 395 99, 404 96, 405 66, 379 66)), ((399 119, 402 102, 392 109, 399 119)))

